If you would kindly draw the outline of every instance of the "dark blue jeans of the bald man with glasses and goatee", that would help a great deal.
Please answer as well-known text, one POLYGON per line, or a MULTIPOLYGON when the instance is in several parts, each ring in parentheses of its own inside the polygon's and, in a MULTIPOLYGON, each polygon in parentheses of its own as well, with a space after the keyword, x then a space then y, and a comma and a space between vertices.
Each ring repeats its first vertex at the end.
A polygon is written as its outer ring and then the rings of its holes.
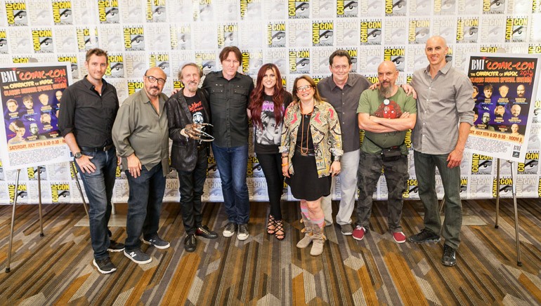
POLYGON ((162 164, 157 164, 147 170, 141 168, 141 176, 133 178, 128 170, 126 177, 129 185, 128 216, 126 218, 126 251, 141 248, 141 233, 143 238, 158 236, 159 213, 162 211, 162 200, 165 191, 165 176, 162 164))

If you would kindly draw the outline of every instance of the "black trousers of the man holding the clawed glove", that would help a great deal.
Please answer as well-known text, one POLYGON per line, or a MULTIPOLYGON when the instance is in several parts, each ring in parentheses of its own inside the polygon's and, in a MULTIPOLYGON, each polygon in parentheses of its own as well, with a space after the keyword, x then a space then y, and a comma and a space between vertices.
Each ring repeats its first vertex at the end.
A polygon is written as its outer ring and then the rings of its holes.
POLYGON ((195 234, 203 220, 201 196, 207 179, 207 151, 197 152, 197 164, 193 171, 177 171, 181 192, 181 211, 186 234, 195 234))

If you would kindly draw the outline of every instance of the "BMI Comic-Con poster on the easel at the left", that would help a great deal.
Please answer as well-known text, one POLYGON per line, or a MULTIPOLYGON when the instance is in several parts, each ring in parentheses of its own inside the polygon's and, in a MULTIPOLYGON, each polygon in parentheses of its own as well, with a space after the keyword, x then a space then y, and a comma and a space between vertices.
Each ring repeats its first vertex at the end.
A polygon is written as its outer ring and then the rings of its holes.
POLYGON ((4 168, 69 161, 70 151, 58 131, 58 109, 63 91, 70 85, 70 63, 0 67, 0 79, 4 168))

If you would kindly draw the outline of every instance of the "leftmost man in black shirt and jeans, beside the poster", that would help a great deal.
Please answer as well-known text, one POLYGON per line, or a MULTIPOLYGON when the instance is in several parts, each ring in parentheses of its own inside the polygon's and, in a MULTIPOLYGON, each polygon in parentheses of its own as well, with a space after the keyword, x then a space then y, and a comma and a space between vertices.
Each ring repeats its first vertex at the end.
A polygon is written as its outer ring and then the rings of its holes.
POLYGON ((111 130, 119 102, 115 87, 102 79, 108 65, 107 53, 99 48, 89 50, 84 65, 89 74, 64 91, 58 128, 75 157, 89 198, 93 265, 107 274, 117 270, 107 251, 124 250, 124 244, 111 240, 107 230, 117 167, 111 130))

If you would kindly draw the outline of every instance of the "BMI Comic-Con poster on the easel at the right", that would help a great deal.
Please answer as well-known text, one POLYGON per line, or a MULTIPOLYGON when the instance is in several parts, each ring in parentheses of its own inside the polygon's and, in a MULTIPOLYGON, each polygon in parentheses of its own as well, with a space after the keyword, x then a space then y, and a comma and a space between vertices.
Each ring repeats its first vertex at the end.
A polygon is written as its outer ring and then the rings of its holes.
POLYGON ((470 55, 474 126, 469 151, 524 162, 534 117, 541 55, 470 55))

